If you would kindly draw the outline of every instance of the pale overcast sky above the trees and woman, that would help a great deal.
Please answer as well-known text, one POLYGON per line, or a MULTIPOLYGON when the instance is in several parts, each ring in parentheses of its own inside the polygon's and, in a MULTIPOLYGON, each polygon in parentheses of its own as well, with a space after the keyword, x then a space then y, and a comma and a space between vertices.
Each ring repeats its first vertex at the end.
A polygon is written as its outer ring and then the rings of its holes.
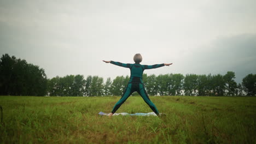
POLYGON ((256 1, 0 0, 0 54, 26 59, 49 78, 129 69, 102 60, 173 63, 147 74, 256 73, 256 1))

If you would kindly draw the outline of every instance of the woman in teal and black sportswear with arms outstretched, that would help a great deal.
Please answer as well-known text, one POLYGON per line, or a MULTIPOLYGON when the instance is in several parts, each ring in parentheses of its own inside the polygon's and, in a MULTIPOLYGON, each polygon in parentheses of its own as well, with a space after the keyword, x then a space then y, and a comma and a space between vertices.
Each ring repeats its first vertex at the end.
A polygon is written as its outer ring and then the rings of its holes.
POLYGON ((115 111, 119 109, 119 107, 125 102, 125 100, 133 93, 138 92, 139 95, 144 99, 144 101, 149 105, 149 107, 155 112, 156 115, 159 116, 158 109, 156 109, 155 105, 152 103, 152 101, 149 99, 148 94, 144 88, 143 82, 142 82, 142 74, 145 69, 155 69, 163 67, 164 65, 169 66, 172 63, 162 63, 162 64, 155 64, 155 65, 141 65, 139 64, 142 61, 141 54, 137 53, 133 57, 134 64, 130 63, 120 63, 120 62, 114 62, 114 61, 103 61, 106 63, 112 63, 115 65, 118 65, 120 67, 129 68, 131 71, 130 81, 125 89, 125 92, 121 99, 114 105, 112 112, 109 114, 109 117, 111 117, 115 111))

